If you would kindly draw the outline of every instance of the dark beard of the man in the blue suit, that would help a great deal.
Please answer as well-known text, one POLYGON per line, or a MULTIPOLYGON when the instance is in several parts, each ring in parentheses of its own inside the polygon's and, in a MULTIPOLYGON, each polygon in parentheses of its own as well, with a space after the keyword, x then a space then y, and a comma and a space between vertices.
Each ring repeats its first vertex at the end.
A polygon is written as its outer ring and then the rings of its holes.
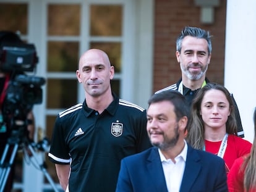
POLYGON ((153 146, 161 149, 161 150, 167 150, 167 149, 171 149, 174 146, 176 146, 177 141, 179 140, 179 128, 178 126, 176 126, 176 128, 174 129, 174 136, 173 138, 168 138, 166 135, 163 134, 163 142, 162 143, 152 143, 153 146))

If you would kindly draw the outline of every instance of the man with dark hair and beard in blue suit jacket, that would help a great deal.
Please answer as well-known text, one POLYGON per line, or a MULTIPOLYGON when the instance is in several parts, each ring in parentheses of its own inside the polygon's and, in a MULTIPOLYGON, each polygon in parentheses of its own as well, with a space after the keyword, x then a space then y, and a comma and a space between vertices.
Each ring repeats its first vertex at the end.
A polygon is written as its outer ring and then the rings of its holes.
POLYGON ((153 147, 122 159, 116 192, 228 191, 223 159, 185 141, 187 106, 177 91, 151 96, 147 131, 153 147))

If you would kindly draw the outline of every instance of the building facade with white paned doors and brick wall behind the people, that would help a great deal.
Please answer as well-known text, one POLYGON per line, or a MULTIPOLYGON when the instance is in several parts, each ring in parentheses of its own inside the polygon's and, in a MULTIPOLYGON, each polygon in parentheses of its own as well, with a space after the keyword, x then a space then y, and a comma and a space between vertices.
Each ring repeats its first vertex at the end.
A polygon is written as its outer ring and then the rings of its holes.
MULTIPOLYGON (((213 36, 207 77, 224 84, 226 10, 226 0, 0 0, 0 31, 19 31, 22 40, 35 44, 39 62, 36 73, 28 75, 46 80, 43 102, 33 108, 35 141, 51 138, 58 112, 83 101, 75 70, 80 55, 90 48, 109 54, 115 67, 113 90, 147 107, 151 94, 181 77, 177 35, 185 26, 200 27, 213 36)), ((53 191, 40 169, 22 154, 18 157, 15 190, 53 191)), ((60 188, 47 152, 37 152, 35 159, 38 164, 45 161, 60 188)))

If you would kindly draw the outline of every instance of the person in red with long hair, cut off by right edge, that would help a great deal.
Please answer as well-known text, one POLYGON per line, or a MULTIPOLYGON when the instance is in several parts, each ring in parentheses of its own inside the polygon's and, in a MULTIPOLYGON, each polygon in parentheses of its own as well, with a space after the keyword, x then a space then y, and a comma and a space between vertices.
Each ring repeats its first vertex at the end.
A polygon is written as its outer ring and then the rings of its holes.
POLYGON ((256 191, 256 107, 254 109, 254 143, 250 154, 234 162, 228 174, 229 192, 256 191))

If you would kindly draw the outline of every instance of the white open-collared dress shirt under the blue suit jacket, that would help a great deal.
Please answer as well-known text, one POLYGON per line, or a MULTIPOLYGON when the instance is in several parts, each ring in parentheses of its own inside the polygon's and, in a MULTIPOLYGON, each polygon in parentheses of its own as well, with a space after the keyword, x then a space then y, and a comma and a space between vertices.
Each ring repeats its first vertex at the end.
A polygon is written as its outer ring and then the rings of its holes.
POLYGON ((177 155, 177 157, 175 157, 176 163, 171 161, 171 159, 166 159, 160 149, 158 149, 163 166, 167 189, 170 192, 179 192, 179 188, 181 188, 181 182, 187 159, 187 143, 186 141, 184 141, 184 143, 185 146, 183 150, 179 155, 177 155))

